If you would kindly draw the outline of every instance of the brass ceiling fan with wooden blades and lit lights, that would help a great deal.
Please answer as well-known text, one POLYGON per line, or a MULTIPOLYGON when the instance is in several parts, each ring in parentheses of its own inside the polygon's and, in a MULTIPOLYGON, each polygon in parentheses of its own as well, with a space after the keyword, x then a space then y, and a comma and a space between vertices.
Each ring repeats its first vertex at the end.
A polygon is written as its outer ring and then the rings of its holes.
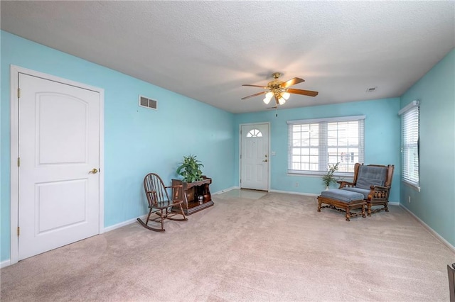
POLYGON ((290 94, 301 94, 304 96, 318 95, 319 93, 318 91, 289 88, 292 85, 305 82, 305 80, 300 79, 299 77, 294 77, 293 79, 289 79, 286 82, 282 82, 278 79, 281 75, 282 74, 280 74, 279 72, 275 72, 274 74, 272 74, 274 80, 269 82, 267 86, 243 84, 242 86, 260 87, 267 90, 258 92, 257 94, 252 94, 251 96, 245 96, 244 98, 242 98, 242 100, 250 99, 254 96, 260 96, 262 94, 265 94, 265 98, 263 100, 265 104, 269 104, 270 100, 274 97, 275 103, 278 106, 286 103, 287 99, 289 99, 290 94))

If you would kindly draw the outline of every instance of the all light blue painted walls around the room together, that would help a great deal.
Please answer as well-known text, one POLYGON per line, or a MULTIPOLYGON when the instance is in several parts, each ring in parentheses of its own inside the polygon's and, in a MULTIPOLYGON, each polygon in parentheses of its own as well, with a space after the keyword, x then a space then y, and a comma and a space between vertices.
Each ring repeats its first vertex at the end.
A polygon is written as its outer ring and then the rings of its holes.
MULTIPOLYGON (((0 261, 10 250, 9 68, 17 65, 105 89, 105 226, 145 213, 144 174, 176 177, 183 155, 198 155, 212 191, 239 184, 239 127, 271 125, 270 189, 319 194, 319 177, 287 175, 288 120, 365 115, 365 163, 395 164, 390 201, 403 201, 415 215, 455 245, 455 53, 449 52, 401 99, 232 115, 112 69, 1 33, 0 261), (137 106, 139 94, 159 100, 159 110, 137 106), (421 187, 400 186, 400 119, 410 101, 421 104, 421 187), (196 117, 188 122, 188 116, 196 117), (197 118, 201 116, 202 118, 197 118), (295 183, 299 182, 299 187, 295 183), (412 196, 412 203, 407 203, 412 196)), ((297 97, 297 96, 296 96, 297 97)), ((291 101, 291 100, 290 100, 291 101)))

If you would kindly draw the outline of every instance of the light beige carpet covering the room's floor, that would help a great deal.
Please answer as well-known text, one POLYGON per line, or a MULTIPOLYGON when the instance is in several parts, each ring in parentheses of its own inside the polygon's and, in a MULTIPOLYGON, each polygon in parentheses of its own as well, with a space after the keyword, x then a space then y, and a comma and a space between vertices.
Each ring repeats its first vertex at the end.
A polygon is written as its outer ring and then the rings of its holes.
POLYGON ((316 198, 221 194, 1 269, 1 301, 448 301, 455 254, 398 206, 345 220, 316 198))

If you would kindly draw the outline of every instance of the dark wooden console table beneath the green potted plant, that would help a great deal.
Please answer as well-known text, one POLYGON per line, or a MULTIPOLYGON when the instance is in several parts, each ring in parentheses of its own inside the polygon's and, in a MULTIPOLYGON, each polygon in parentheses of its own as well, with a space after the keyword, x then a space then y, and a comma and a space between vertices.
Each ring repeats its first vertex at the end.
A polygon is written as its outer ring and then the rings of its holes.
POLYGON ((212 196, 210 195, 209 185, 212 183, 211 178, 203 176, 203 180, 187 183, 180 179, 172 179, 172 185, 182 185, 182 189, 178 190, 178 199, 182 198, 183 212, 185 215, 191 215, 204 208, 213 206, 212 196), (184 194, 183 194, 184 192, 184 194), (198 196, 203 196, 202 201, 198 200, 198 196))

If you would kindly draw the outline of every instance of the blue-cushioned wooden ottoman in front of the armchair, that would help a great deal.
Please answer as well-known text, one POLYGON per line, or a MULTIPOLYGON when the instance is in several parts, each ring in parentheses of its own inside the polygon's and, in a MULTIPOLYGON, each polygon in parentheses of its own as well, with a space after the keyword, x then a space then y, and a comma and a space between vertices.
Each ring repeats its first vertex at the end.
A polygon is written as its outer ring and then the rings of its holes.
POLYGON ((336 211, 346 212, 346 221, 350 221, 351 216, 358 216, 360 213, 365 218, 365 206, 367 202, 363 199, 363 194, 346 191, 341 189, 330 189, 322 191, 321 195, 318 196, 318 212, 321 212, 321 208, 333 208, 336 211), (326 203, 327 206, 321 206, 322 203, 326 203), (351 213, 350 210, 353 208, 360 208, 360 213, 351 213))

